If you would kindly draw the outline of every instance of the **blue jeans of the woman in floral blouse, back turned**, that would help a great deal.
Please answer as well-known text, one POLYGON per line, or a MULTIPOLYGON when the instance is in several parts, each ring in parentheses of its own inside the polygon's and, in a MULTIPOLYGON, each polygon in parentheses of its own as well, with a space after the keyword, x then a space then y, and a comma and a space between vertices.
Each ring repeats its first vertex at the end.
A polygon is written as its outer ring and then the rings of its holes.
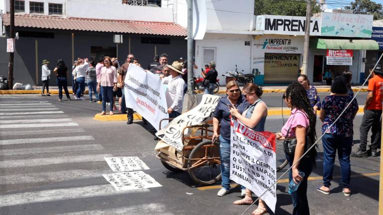
POLYGON ((353 137, 344 135, 325 134, 322 137, 323 143, 323 185, 330 187, 333 180, 333 169, 335 154, 338 151, 338 159, 341 164, 341 181, 344 188, 350 187, 351 164, 350 154, 353 144, 353 137))

